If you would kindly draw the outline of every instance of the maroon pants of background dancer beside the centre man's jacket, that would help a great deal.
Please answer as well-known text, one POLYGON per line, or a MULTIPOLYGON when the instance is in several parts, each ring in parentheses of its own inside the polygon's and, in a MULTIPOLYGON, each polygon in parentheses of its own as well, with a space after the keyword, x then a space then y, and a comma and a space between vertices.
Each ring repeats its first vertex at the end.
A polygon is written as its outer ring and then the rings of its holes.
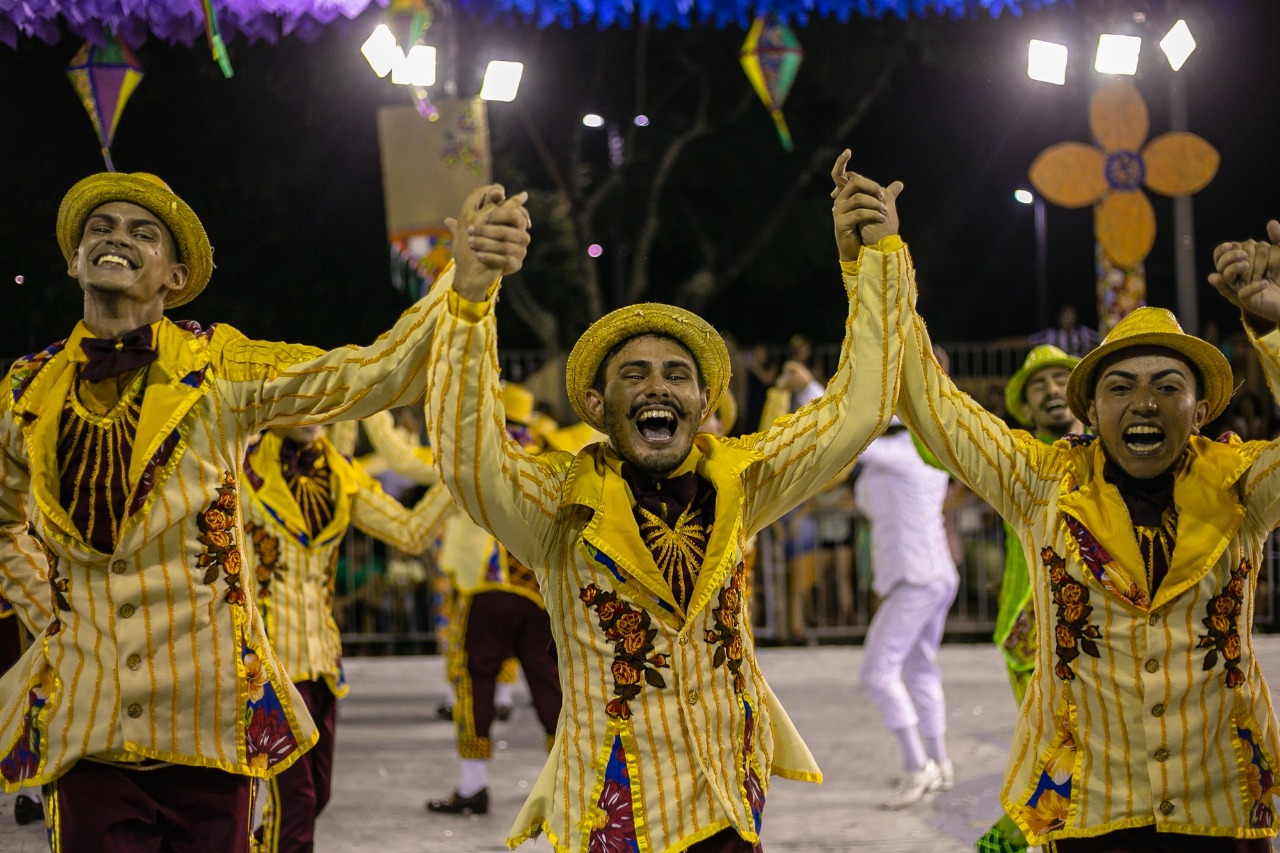
MULTIPOLYGON (((508 592, 483 592, 471 597, 463 651, 471 679, 475 736, 489 738, 498 671, 509 657, 518 660, 525 671, 543 730, 556 734, 561 689, 552 646, 552 621, 547 611, 529 598, 508 592)), ((458 725, 465 724, 460 721, 458 725)))

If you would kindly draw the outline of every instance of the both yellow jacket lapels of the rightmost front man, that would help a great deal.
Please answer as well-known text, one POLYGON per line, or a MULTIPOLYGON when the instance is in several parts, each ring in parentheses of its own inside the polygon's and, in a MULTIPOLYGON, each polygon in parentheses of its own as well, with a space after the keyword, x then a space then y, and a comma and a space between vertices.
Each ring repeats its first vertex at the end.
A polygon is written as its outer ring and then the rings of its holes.
MULTIPOLYGON (((1178 539, 1169 575, 1149 610, 1158 610, 1194 587, 1213 569, 1244 520, 1238 482, 1266 448, 1266 442, 1244 443, 1236 435, 1210 441, 1192 435, 1174 478, 1178 539)), ((1102 476, 1106 456, 1102 442, 1066 450, 1068 475, 1059 493, 1059 510, 1093 534, 1110 555, 1110 567, 1121 574, 1120 589, 1144 576, 1138 538, 1120 491, 1102 476)), ((1066 538, 1071 542, 1071 534, 1066 538)), ((1108 590, 1114 594, 1114 590, 1108 590)))

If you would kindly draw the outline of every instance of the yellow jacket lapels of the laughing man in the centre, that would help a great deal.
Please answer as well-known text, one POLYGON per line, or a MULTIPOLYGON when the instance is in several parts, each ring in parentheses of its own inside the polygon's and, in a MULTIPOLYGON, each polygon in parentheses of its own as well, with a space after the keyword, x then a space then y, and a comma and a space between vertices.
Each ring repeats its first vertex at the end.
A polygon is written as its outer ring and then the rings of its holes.
POLYGON ((742 473, 762 459, 762 453, 733 439, 699 433, 689 457, 676 469, 677 474, 696 470, 716 489, 716 521, 687 613, 676 603, 667 579, 640 538, 635 501, 618 473, 621 460, 605 443, 590 444, 573 459, 561 507, 582 506, 590 510, 591 519, 581 538, 617 566, 620 571, 611 571, 611 578, 620 585, 639 585, 649 598, 662 603, 653 611, 659 619, 678 624, 705 607, 735 569, 742 525, 742 473))

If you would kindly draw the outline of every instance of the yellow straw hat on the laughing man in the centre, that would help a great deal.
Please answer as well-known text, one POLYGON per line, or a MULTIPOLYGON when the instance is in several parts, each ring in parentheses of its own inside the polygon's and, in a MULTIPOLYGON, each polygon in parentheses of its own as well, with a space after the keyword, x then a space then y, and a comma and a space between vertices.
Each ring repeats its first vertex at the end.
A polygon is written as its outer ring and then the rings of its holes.
POLYGON ((593 323, 573 345, 564 364, 564 389, 573 411, 602 433, 607 432, 604 421, 586 411, 586 391, 595 384, 600 362, 616 346, 645 334, 675 338, 689 350, 708 391, 708 412, 716 411, 728 387, 728 348, 710 323, 675 305, 641 302, 621 307, 593 323))

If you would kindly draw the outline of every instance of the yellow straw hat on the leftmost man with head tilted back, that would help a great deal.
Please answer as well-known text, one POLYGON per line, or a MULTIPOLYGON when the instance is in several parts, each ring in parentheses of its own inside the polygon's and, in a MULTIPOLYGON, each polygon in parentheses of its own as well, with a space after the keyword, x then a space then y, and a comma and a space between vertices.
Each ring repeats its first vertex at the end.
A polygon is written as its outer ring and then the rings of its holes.
POLYGON ((70 263, 84 236, 84 220, 105 204, 128 201, 160 218, 178 245, 178 260, 187 265, 187 284, 165 297, 166 309, 196 298, 214 274, 214 247, 200 218, 160 178, 146 172, 100 172, 84 178, 63 196, 58 207, 58 245, 70 263))

